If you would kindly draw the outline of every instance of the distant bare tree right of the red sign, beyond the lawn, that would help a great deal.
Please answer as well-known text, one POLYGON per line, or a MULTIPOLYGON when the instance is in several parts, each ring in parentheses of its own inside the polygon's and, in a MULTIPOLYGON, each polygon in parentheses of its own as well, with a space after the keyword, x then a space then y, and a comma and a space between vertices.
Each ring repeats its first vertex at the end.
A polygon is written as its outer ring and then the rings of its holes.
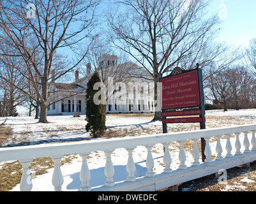
POLYGON ((215 72, 206 80, 210 90, 207 99, 227 108, 252 108, 255 106, 255 77, 244 66, 234 64, 230 68, 215 72))

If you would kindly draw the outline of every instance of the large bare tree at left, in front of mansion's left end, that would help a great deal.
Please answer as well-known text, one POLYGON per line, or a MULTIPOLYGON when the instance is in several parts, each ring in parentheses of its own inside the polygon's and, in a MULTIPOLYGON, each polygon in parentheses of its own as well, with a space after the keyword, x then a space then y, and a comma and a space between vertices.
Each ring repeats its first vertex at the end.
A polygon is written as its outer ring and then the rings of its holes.
POLYGON ((49 85, 75 68, 87 54, 87 46, 94 39, 94 12, 98 3, 98 0, 35 0, 34 4, 24 0, 0 2, 0 32, 3 36, 0 40, 13 46, 26 64, 27 78, 37 96, 34 100, 39 99, 40 103, 39 122, 47 122, 49 85), (38 52, 43 56, 40 62, 35 61, 38 52), (72 56, 74 60, 70 60, 66 67, 61 67, 63 64, 53 66, 59 54, 62 54, 63 62, 72 56), (77 54, 82 57, 76 58, 77 54))

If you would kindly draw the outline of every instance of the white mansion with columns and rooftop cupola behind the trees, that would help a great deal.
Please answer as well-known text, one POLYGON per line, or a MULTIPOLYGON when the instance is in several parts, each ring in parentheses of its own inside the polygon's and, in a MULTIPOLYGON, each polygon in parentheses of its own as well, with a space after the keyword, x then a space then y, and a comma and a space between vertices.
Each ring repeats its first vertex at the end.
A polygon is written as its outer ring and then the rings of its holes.
MULTIPOLYGON (((116 55, 103 55, 98 59, 97 69, 106 89, 107 113, 149 113, 154 111, 153 77, 133 62, 117 64, 116 55), (112 84, 112 85, 109 85, 112 84), (121 84, 121 85, 120 85, 121 84), (121 88, 122 86, 122 88, 121 88), (123 95, 119 91, 123 89, 123 95)), ((53 84, 54 92, 49 99, 56 101, 49 105, 47 115, 86 114, 86 84, 91 76, 91 64, 87 64, 87 74, 79 78, 75 72, 72 84, 53 84)))

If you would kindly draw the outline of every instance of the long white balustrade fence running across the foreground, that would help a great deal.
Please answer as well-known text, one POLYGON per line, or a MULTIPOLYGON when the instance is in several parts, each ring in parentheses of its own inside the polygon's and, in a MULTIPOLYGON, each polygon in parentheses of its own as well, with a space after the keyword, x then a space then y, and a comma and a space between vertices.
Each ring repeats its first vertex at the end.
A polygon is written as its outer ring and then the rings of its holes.
POLYGON ((79 154, 82 157, 82 167, 80 170, 80 180, 82 186, 80 191, 156 191, 165 187, 174 186, 182 182, 197 179, 216 173, 220 169, 229 169, 241 164, 249 163, 256 160, 256 125, 235 126, 229 128, 204 129, 198 131, 187 131, 181 133, 167 133, 160 135, 135 136, 126 138, 115 138, 109 140, 94 140, 86 142, 57 143, 50 145, 35 145, 27 147, 13 147, 0 149, 0 161, 19 160, 23 166, 22 179, 20 181, 21 191, 31 191, 33 184, 29 173, 29 164, 34 158, 51 157, 54 161, 54 173, 52 175, 52 185, 56 191, 61 191, 63 185, 63 175, 59 162, 64 155, 79 154), (250 135, 250 137, 249 137, 250 135), (224 137, 225 136, 225 137, 224 137), (236 143, 230 142, 236 136, 236 143), (225 138, 225 147, 220 142, 220 138, 225 138), (197 142, 200 138, 206 139, 206 160, 204 163, 199 161, 200 154, 197 142), (210 139, 215 138, 216 159, 211 159, 210 139), (249 140, 250 138, 250 140, 249 140), (193 163, 191 166, 185 164, 186 154, 184 151, 184 142, 193 141, 193 163), (243 142, 241 142, 243 140, 243 142), (170 157, 169 145, 172 142, 178 142, 179 149, 179 169, 170 168, 172 158, 170 157), (165 169, 162 173, 154 173, 154 159, 152 148, 157 143, 162 143, 165 147, 163 152, 163 164, 165 169), (243 145, 241 145, 241 143, 243 145), (135 177, 135 163, 133 161, 133 150, 143 145, 147 148, 146 167, 147 173, 144 177, 135 177), (126 170, 128 177, 121 182, 115 182, 114 166, 111 155, 115 149, 124 148, 128 153, 126 170), (223 155, 223 148, 227 154, 223 155), (105 152, 107 159, 105 163, 106 181, 103 186, 91 187, 91 172, 87 165, 87 157, 91 152, 102 150, 105 152), (243 152, 241 152, 243 150, 243 152), (233 154, 232 154, 233 152, 233 154))

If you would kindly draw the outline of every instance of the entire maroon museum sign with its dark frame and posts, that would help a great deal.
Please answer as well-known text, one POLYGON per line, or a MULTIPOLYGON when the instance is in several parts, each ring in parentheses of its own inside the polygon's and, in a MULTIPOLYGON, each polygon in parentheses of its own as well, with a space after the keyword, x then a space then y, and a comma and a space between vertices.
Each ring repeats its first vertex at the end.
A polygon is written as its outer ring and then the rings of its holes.
MULTIPOLYGON (((167 77, 160 78, 162 84, 162 123, 163 133, 167 124, 200 122, 200 129, 206 129, 204 110, 204 89, 202 69, 186 71, 175 68, 167 77)), ((201 138, 202 160, 206 142, 201 138)))

